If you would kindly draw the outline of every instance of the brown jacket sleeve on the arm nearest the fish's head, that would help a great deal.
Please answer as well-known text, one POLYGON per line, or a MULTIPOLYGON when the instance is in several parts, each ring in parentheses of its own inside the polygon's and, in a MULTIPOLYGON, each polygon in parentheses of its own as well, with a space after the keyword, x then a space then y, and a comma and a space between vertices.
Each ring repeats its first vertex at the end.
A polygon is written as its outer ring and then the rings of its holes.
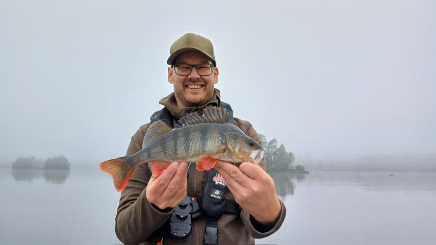
MULTIPOLYGON (((261 144, 260 137, 251 124, 248 125, 247 131, 245 132, 245 134, 250 136, 252 139, 257 141, 259 144, 261 144)), ((262 167, 262 169, 264 171, 266 171, 265 158, 263 158, 259 162, 259 165, 260 165, 260 167, 262 167)), ((279 197, 277 197, 277 198, 279 198, 279 197)), ((286 208, 285 208, 282 200, 279 199, 279 201, 280 201, 280 205, 282 207, 282 209, 280 211, 280 215, 276 221, 274 221, 273 223, 271 223, 269 225, 263 225, 263 224, 257 222, 253 218, 253 216, 251 216, 248 212, 246 212, 243 209, 241 210, 241 220, 244 223, 245 228, 247 229, 247 231, 250 233, 250 235, 253 238, 258 239, 258 238, 267 237, 267 236, 273 234, 274 232, 276 232, 277 230, 279 230, 280 226, 282 226, 282 223, 284 221, 284 217, 286 216, 286 208)))

